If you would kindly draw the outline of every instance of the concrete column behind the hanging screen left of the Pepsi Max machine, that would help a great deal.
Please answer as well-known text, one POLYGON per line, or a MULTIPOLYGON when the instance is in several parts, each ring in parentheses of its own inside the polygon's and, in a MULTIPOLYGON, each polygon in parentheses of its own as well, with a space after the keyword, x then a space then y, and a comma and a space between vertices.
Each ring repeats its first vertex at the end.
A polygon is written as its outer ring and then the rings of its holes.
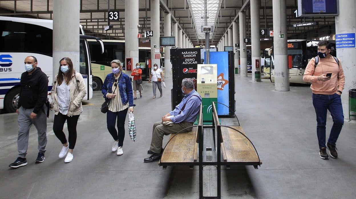
MULTIPOLYGON (((171 36, 171 14, 164 13, 164 36, 171 36)), ((164 77, 172 77, 171 47, 164 47, 164 77)))

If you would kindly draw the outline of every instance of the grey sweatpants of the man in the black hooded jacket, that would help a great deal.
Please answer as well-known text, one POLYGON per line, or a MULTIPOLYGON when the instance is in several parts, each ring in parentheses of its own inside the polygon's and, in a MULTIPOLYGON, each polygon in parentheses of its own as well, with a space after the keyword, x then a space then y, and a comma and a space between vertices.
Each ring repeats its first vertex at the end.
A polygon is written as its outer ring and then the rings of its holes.
MULTIPOLYGON (((47 107, 44 105, 43 109, 47 111, 47 107)), ((31 119, 30 115, 33 109, 25 109, 22 106, 19 108, 19 117, 17 122, 19 123, 19 134, 17 136, 17 150, 19 151, 19 157, 25 158, 27 154, 28 146, 28 134, 30 128, 35 125, 38 134, 38 151, 45 153, 47 144, 47 116, 42 110, 38 112, 35 119, 31 119)))

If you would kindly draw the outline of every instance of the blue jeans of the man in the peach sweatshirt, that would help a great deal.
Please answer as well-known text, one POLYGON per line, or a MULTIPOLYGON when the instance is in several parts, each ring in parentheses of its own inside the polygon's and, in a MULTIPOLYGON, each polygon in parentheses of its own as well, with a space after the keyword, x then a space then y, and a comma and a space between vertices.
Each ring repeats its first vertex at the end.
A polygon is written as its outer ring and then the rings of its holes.
POLYGON ((328 143, 335 144, 344 125, 344 113, 342 111, 341 96, 338 94, 322 95, 313 93, 313 105, 316 113, 316 135, 318 136, 319 148, 325 147, 326 115, 328 110, 333 117, 333 127, 330 131, 328 143))

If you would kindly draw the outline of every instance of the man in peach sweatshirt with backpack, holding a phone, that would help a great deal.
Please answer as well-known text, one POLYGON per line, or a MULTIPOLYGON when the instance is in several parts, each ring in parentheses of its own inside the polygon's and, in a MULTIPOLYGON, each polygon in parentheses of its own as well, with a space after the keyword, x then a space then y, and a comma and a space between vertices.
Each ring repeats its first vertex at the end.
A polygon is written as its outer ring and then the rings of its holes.
POLYGON ((330 55, 331 44, 328 41, 318 43, 319 62, 315 67, 315 58, 312 58, 303 75, 304 82, 310 82, 313 92, 313 105, 316 113, 316 135, 319 141, 319 156, 321 159, 329 159, 326 146, 329 148, 330 156, 337 158, 336 140, 344 125, 344 113, 341 105, 341 94, 344 89, 345 75, 341 62, 330 55), (331 76, 330 76, 331 74, 331 76), (328 143, 325 146, 326 115, 328 110, 333 117, 333 127, 330 131, 328 143))

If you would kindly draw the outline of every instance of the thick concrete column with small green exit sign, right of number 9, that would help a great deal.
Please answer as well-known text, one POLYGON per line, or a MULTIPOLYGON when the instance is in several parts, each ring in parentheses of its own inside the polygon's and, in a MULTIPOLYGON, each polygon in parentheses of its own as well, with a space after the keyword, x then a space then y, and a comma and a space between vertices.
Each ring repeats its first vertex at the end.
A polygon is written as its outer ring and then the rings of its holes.
POLYGON ((273 0, 274 90, 289 91, 286 0, 273 0), (278 38, 284 34, 284 38, 278 38))

